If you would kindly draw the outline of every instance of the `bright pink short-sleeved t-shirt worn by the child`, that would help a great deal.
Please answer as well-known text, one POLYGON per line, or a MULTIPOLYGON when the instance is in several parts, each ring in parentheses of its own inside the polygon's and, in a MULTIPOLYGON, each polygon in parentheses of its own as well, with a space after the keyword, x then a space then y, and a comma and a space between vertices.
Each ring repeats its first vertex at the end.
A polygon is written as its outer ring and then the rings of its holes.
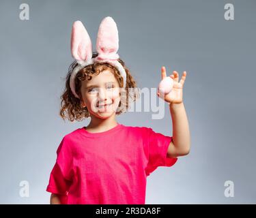
POLYGON ((171 136, 122 124, 99 133, 85 127, 61 140, 46 191, 62 204, 145 204, 146 178, 167 157, 171 136))

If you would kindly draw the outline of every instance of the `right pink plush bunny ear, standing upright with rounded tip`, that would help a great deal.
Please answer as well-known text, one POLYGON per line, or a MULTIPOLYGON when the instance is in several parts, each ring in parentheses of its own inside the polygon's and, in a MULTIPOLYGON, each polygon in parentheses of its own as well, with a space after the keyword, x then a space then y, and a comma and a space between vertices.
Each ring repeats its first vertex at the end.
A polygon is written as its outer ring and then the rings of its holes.
POLYGON ((96 42, 96 50, 98 52, 98 57, 96 60, 117 60, 119 55, 117 55, 119 38, 117 25, 113 18, 107 16, 100 23, 98 30, 98 37, 96 42))

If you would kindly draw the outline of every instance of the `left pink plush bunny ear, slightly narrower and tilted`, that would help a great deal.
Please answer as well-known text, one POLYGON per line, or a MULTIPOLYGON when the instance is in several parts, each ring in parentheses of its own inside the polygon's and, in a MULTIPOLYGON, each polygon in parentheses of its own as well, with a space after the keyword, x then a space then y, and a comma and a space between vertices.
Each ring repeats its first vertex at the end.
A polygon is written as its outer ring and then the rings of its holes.
POLYGON ((92 56, 91 39, 80 20, 76 20, 72 26, 71 54, 79 63, 89 61, 92 56))

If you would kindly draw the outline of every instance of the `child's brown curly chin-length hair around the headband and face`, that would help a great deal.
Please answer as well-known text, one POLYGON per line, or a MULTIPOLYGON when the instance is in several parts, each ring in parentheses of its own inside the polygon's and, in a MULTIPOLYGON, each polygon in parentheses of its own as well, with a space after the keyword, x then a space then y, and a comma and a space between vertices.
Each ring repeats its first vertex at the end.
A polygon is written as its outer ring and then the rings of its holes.
MULTIPOLYGON (((98 53, 94 52, 92 55, 92 58, 97 57, 98 53)), ((124 89, 124 99, 119 102, 119 110, 115 112, 115 114, 122 114, 122 112, 126 112, 128 110, 130 101, 134 102, 139 98, 139 89, 137 89, 137 84, 132 78, 132 75, 130 74, 130 70, 126 67, 124 61, 122 59, 118 59, 119 63, 122 64, 126 71, 126 88, 124 89), (131 89, 132 88, 132 89, 131 89)), ((70 75, 72 73, 72 70, 74 67, 76 67, 78 63, 74 61, 69 69, 68 74, 66 76, 66 88, 61 95, 61 110, 59 112, 59 115, 63 120, 68 119, 69 121, 82 121, 85 118, 88 118, 90 116, 89 111, 87 107, 82 108, 80 99, 74 97, 71 89, 70 89, 70 75)), ((119 84, 119 87, 123 87, 123 77, 120 75, 118 69, 114 67, 113 65, 110 65, 109 63, 99 63, 94 62, 91 65, 87 65, 86 67, 83 67, 83 69, 79 70, 79 72, 76 74, 75 78, 75 87, 76 87, 76 93, 81 98, 81 81, 83 80, 91 80, 93 76, 97 76, 100 74, 100 72, 103 72, 105 69, 109 69, 111 73, 115 76, 117 79, 117 82, 119 84)))

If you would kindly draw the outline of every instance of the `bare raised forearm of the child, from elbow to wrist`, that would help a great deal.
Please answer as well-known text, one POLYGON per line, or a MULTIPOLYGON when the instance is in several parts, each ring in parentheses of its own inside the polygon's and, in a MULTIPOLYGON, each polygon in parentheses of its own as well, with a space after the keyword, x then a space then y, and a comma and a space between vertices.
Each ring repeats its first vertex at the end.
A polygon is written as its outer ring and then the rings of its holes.
POLYGON ((188 153, 190 151, 190 131, 184 103, 169 104, 173 123, 173 144, 176 151, 188 153))

